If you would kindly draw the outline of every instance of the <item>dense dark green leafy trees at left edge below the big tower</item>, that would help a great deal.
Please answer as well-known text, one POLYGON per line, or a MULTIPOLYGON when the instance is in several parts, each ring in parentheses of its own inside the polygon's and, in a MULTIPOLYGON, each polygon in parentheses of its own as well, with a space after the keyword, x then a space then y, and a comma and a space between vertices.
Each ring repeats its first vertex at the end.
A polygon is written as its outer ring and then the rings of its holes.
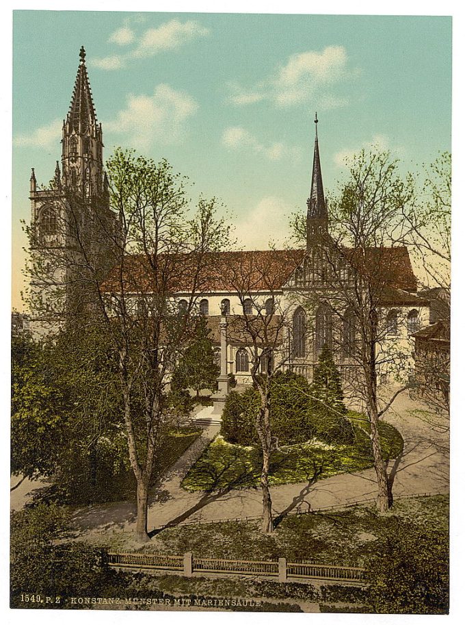
POLYGON ((75 503, 114 498, 129 469, 115 376, 92 324, 64 328, 43 345, 14 335, 13 474, 47 476, 75 503))

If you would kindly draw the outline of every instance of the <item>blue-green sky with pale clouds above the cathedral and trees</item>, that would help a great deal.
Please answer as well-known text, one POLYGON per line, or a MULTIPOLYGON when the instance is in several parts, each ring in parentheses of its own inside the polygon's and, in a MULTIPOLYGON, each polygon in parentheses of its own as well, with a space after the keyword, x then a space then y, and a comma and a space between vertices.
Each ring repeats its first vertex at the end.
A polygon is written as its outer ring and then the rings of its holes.
POLYGON ((278 244, 305 209, 315 110, 323 182, 377 142, 404 171, 451 146, 451 19, 16 11, 13 305, 21 307, 29 175, 53 175, 79 63, 114 146, 166 157, 233 213, 247 248, 278 244))

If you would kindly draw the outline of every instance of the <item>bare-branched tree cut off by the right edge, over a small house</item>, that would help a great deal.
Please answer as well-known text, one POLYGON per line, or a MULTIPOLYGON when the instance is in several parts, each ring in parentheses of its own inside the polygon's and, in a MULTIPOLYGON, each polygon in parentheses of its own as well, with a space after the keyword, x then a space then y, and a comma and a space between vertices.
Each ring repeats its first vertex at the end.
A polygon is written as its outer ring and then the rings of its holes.
POLYGON ((404 239, 422 268, 430 298, 429 329, 415 337, 415 390, 423 407, 416 416, 436 431, 449 431, 451 315, 451 154, 442 153, 416 178, 414 202, 406 207, 404 239), (418 179, 420 179, 418 181, 418 179))

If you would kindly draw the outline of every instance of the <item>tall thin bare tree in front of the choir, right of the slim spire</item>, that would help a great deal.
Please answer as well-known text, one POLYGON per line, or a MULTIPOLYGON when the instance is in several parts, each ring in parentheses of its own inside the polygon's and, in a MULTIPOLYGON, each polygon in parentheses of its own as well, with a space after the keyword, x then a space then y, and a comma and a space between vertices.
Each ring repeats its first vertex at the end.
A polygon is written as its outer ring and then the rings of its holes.
MULTIPOLYGON (((397 245, 403 209, 412 188, 396 171, 388 153, 354 157, 340 194, 330 202, 331 235, 323 233, 308 249, 295 297, 306 301, 314 321, 308 327, 313 353, 323 345, 338 357, 349 401, 363 409, 370 423, 377 477, 377 507, 392 505, 392 484, 382 456, 379 422, 397 395, 408 387, 406 363, 411 347, 400 340, 405 307, 420 305, 408 252, 397 245), (380 377, 400 383, 380 399, 380 377)), ((302 220, 295 232, 302 233, 302 220)))

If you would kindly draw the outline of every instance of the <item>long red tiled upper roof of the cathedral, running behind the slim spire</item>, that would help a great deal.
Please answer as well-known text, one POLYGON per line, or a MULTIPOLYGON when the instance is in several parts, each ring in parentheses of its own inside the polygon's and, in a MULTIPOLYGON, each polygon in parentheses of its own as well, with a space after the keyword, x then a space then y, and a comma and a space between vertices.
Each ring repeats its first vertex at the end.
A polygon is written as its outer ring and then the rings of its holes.
MULTIPOLYGON (((416 278, 406 247, 369 248, 363 253, 347 248, 344 253, 349 263, 359 270, 371 274, 379 272, 384 287, 387 285, 410 293, 416 291, 416 278)), ((156 267, 148 257, 132 255, 125 259, 122 270, 111 270, 103 289, 118 292, 122 284, 127 292, 136 293, 157 292, 164 288, 167 293, 183 294, 191 292, 194 287, 196 292, 205 294, 237 290, 276 291, 302 264, 305 255, 305 250, 210 252, 202 257, 159 255, 156 267)), ((407 294, 403 297, 406 298, 407 294)))

